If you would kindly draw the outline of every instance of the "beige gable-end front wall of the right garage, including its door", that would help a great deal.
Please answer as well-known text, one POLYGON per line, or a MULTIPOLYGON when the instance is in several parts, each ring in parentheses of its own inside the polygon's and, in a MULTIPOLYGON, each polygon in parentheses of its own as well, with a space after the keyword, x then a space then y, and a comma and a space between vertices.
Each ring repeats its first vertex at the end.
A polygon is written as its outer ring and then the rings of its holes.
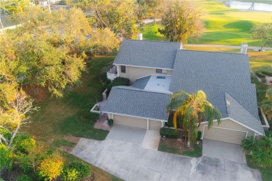
MULTIPOLYGON (((202 134, 204 125, 208 124, 204 123, 199 127, 199 131, 201 131, 202 134)), ((220 125, 218 125, 217 122, 213 122, 213 127, 211 127, 210 129, 208 129, 208 127, 205 127, 203 139, 211 139, 215 141, 241 144, 241 141, 245 139, 246 134, 247 136, 254 136, 255 132, 246 127, 243 127, 242 125, 239 125, 238 123, 235 123, 232 120, 222 120, 220 125), (216 127, 225 129, 220 129, 216 127), (235 129, 243 132, 238 132, 230 129, 235 129)))

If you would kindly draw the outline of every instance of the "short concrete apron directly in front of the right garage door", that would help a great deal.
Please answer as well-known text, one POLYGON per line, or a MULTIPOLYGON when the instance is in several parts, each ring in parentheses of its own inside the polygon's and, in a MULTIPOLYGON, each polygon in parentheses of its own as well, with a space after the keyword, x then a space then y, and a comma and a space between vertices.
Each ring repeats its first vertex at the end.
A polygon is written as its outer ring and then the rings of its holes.
POLYGON ((227 159, 230 161, 246 164, 245 153, 243 153, 241 145, 224 143, 220 141, 211 141, 207 139, 204 139, 202 143, 203 156, 227 159))

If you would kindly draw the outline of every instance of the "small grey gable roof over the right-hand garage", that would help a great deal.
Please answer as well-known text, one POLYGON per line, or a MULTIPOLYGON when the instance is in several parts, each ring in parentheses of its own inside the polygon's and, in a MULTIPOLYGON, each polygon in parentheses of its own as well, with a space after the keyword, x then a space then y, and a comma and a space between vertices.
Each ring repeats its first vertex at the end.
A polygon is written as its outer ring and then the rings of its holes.
POLYGON ((259 134, 264 134, 264 129, 262 128, 259 119, 252 116, 239 102, 234 100, 234 98, 228 93, 220 93, 218 96, 214 97, 211 101, 214 107, 219 109, 222 113, 222 118, 232 118, 236 122, 250 127, 255 132, 259 134))

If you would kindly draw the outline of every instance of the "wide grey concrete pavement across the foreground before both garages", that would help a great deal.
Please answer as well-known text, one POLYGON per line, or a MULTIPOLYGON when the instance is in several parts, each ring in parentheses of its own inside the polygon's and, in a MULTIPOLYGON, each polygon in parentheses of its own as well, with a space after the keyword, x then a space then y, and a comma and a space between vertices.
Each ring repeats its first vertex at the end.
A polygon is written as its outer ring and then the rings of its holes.
POLYGON ((184 157, 112 139, 80 139, 72 154, 123 180, 262 180, 258 170, 243 163, 184 157))

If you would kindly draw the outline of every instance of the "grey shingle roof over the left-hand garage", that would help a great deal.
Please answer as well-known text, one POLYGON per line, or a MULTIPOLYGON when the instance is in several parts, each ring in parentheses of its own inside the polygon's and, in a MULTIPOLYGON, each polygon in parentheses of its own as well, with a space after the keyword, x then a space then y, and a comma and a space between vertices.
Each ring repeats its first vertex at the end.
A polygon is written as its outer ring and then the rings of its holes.
POLYGON ((100 111, 129 116, 168 120, 166 106, 171 94, 143 91, 128 86, 112 87, 100 111))

